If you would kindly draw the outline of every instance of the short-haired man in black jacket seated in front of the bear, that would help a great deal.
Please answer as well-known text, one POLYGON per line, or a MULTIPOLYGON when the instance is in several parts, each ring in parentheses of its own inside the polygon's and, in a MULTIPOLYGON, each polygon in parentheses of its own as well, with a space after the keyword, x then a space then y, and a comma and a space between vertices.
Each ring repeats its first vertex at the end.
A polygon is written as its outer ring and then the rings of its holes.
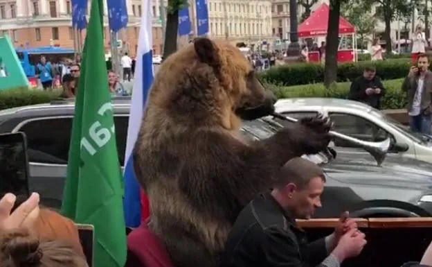
POLYGON ((344 259, 359 255, 366 240, 348 214, 333 234, 309 244, 296 225, 296 218, 310 218, 321 207, 325 176, 316 164, 294 158, 275 180, 271 193, 252 200, 237 217, 222 267, 339 267, 344 259))

